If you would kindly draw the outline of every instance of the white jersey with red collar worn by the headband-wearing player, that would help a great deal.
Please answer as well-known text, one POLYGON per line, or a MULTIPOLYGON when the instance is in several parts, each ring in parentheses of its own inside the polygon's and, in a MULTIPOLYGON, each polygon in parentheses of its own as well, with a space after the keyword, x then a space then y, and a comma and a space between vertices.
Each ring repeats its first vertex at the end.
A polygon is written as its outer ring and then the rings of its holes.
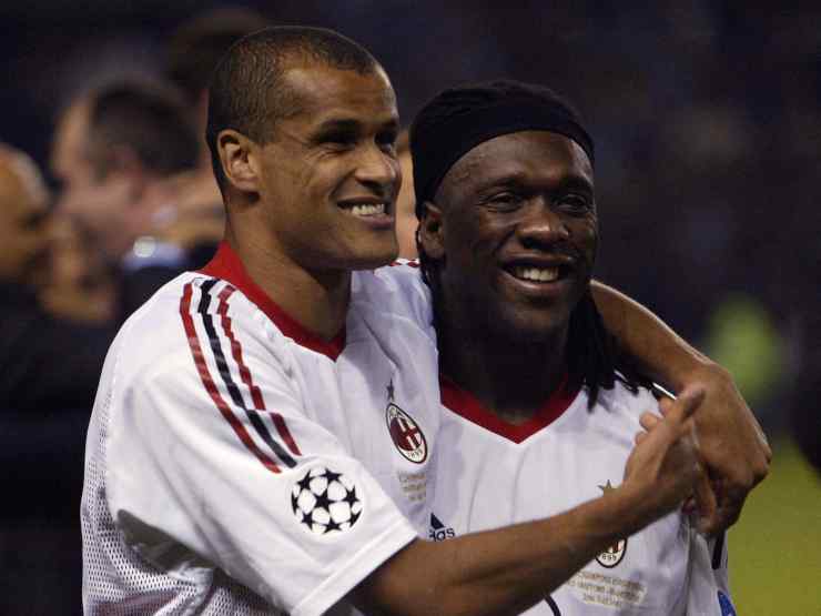
MULTIPOLYGON (((446 378, 440 385, 434 541, 553 516, 615 488, 640 413, 658 406, 647 391, 635 395, 618 383, 588 410, 586 391, 562 387, 513 425, 446 378)), ((668 515, 610 546, 526 614, 734 614, 723 549, 686 516, 668 515)))

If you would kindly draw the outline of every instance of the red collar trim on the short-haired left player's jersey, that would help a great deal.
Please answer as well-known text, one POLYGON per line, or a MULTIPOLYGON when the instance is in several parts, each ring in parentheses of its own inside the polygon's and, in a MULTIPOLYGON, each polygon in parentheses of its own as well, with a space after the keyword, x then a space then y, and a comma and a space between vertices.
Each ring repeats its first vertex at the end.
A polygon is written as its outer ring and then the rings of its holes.
POLYGON ((283 334, 301 346, 322 353, 333 361, 336 361, 336 357, 345 349, 344 325, 339 333, 330 342, 322 340, 313 332, 306 330, 301 323, 286 314, 259 284, 251 280, 240 256, 227 242, 220 242, 216 254, 214 254, 214 257, 200 272, 209 276, 222 279, 236 286, 236 289, 242 291, 249 300, 255 303, 274 322, 283 334))

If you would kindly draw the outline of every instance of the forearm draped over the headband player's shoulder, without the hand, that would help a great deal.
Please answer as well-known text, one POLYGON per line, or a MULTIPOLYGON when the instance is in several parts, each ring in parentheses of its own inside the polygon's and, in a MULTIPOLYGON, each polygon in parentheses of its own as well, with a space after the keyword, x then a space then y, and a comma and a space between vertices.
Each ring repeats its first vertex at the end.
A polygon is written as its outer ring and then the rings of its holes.
POLYGON ((624 293, 598 281, 592 281, 590 287, 605 326, 642 374, 680 390, 699 371, 722 370, 624 293))

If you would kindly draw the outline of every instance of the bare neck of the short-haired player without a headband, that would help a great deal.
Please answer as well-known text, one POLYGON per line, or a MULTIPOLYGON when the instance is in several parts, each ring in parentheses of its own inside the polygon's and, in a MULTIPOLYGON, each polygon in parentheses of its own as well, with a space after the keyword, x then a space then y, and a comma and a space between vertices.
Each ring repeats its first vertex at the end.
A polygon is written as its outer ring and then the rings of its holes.
POLYGON ((230 223, 225 240, 249 276, 294 321, 326 342, 342 331, 351 301, 351 272, 310 272, 254 236, 237 241, 230 223))

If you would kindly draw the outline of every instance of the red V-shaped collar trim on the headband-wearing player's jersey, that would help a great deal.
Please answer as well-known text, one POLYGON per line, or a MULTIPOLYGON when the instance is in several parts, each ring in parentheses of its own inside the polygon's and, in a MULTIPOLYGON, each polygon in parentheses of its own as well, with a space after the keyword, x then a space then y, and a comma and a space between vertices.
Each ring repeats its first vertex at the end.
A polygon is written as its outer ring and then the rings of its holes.
POLYGON ((524 424, 516 425, 488 411, 473 394, 460 388, 444 374, 439 375, 439 387, 442 390, 442 404, 450 411, 468 422, 489 430, 516 444, 529 438, 558 420, 579 394, 579 390, 568 388, 568 377, 565 374, 561 385, 553 393, 539 412, 524 424))

